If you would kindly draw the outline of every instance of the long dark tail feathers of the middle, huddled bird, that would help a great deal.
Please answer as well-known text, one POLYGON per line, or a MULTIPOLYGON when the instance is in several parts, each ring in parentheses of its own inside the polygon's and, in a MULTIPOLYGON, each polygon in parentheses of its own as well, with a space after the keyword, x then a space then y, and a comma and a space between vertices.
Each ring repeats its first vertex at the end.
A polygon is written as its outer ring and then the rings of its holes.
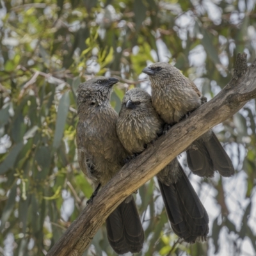
POLYGON ((173 232, 188 243, 206 241, 208 214, 180 164, 179 168, 182 175, 176 183, 166 186, 158 180, 173 232))

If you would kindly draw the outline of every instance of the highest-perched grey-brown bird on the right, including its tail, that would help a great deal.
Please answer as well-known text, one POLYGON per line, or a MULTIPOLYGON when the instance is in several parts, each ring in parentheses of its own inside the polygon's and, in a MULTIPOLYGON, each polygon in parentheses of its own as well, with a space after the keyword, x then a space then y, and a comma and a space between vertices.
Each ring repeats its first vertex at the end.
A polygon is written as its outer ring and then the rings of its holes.
MULTIPOLYGON (((166 124, 179 122, 202 104, 202 93, 179 69, 168 63, 154 63, 142 70, 152 86, 152 104, 166 124)), ((211 130, 193 142, 187 152, 188 166, 201 177, 234 175, 233 164, 211 130)))

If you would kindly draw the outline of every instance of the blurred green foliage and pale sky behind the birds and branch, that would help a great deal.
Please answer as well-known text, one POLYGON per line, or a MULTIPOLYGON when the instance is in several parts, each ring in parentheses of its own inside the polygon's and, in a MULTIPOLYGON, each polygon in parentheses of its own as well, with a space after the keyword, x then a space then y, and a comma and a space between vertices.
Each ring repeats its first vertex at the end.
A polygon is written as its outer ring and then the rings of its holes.
MULTIPOLYGON (((127 88, 150 91, 145 66, 169 61, 210 100, 238 52, 255 59, 255 29, 255 0, 0 0, 0 255, 45 255, 92 193, 74 142, 79 83, 118 77, 118 111, 127 88)), ((255 255, 255 110, 252 100, 214 128, 234 177, 200 179, 180 157, 209 213, 209 241, 178 243, 152 179, 136 199, 146 235, 136 255, 255 255)), ((116 255, 105 227, 84 255, 116 255)))

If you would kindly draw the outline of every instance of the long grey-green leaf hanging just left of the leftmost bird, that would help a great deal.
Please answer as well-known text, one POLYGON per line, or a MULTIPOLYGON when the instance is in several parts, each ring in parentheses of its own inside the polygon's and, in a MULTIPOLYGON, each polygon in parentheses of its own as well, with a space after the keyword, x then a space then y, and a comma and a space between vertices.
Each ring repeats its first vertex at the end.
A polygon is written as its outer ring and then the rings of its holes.
POLYGON ((68 115, 69 108, 69 92, 65 92, 60 99, 60 104, 58 106, 57 120, 56 120, 56 129, 53 140, 53 147, 60 147, 60 142, 63 137, 63 131, 65 128, 65 122, 68 115))

